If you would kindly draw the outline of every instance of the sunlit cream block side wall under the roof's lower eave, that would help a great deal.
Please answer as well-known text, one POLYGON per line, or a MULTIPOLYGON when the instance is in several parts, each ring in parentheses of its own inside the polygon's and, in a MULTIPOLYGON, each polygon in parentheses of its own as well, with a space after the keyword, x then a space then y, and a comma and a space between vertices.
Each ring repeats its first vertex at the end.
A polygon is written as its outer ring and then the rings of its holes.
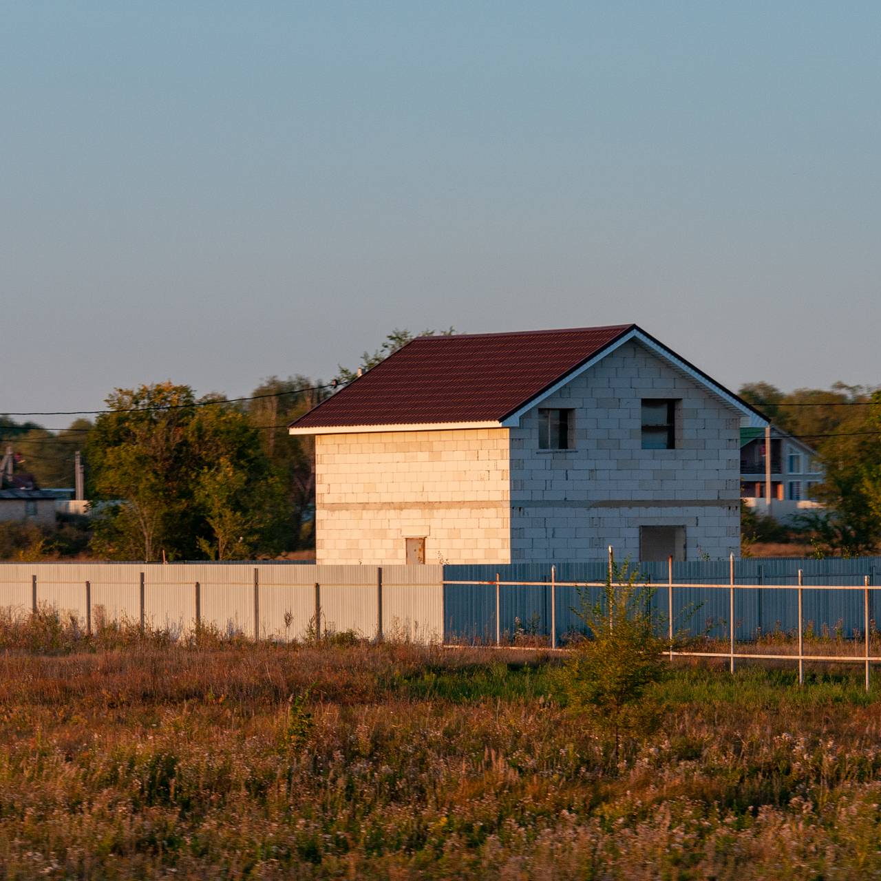
POLYGON ((510 561, 507 429, 319 435, 316 559, 403 563, 510 561))

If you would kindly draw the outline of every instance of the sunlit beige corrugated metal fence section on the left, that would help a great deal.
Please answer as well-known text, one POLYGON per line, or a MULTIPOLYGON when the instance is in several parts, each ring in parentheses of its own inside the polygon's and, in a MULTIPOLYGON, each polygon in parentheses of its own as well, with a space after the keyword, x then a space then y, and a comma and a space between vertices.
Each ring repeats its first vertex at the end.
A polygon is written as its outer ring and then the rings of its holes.
POLYGON ((3 563, 0 607, 55 607, 84 629, 126 620, 173 633, 197 624, 259 639, 352 630, 441 640, 441 566, 3 563))

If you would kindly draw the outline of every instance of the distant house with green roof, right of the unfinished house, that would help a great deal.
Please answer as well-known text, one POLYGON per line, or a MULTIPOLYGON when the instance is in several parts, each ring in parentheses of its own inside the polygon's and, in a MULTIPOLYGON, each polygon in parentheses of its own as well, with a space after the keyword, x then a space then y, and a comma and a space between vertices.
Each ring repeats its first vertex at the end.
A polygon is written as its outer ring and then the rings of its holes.
POLYGON ((765 433, 741 429, 741 495, 747 505, 781 522, 805 511, 824 509, 813 499, 815 487, 825 480, 816 450, 772 426, 770 464, 771 479, 766 486, 765 433))

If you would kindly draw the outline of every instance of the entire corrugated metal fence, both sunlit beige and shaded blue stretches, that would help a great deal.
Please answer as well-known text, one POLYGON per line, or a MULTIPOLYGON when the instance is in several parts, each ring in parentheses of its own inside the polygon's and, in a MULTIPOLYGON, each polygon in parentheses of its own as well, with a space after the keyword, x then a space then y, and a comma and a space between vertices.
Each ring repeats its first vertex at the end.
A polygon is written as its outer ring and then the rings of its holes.
MULTIPOLYGON (((654 603, 667 614, 666 563, 642 563, 640 576, 657 586, 654 603)), ((602 560, 555 564, 557 581, 604 581, 602 560)), ((748 640, 757 633, 797 626, 796 594, 774 589, 795 585, 803 571, 803 619, 815 632, 837 628, 845 635, 861 632, 864 610, 855 591, 813 590, 811 584, 881 586, 881 558, 739 559, 736 584, 767 585, 737 592, 735 635, 748 640)), ((46 603, 74 615, 87 627, 99 618, 126 619, 167 626, 189 633, 200 622, 227 633, 261 639, 302 638, 315 626, 316 609, 322 631, 353 630, 374 638, 401 636, 418 641, 494 641, 499 631, 547 636, 555 619, 557 639, 581 629, 575 609, 581 591, 560 586, 502 584, 499 614, 496 591, 478 581, 549 581, 551 565, 508 566, 315 566, 273 563, 2 563, 0 607, 26 614, 46 603), (473 582, 470 580, 473 579, 473 582), (451 581, 465 583, 452 584, 451 581), (317 588, 316 588, 317 585, 317 588)), ((673 579, 693 584, 674 591, 677 626, 720 639, 728 631, 729 598, 701 584, 729 580, 728 560, 673 564, 673 579), (696 611, 695 611, 696 610, 696 611)), ((870 591, 870 615, 881 620, 881 590, 870 591)))

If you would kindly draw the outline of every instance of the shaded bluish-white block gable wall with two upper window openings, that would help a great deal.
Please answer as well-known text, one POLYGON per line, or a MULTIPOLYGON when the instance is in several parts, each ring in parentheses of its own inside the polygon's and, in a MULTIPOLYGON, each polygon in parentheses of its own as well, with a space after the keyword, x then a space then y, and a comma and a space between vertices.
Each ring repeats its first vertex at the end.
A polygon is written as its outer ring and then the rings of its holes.
POLYGON ((637 559, 640 526, 685 526, 687 558, 740 548, 740 414, 632 342, 541 403, 575 410, 575 448, 511 429, 512 560, 637 559), (644 450, 641 399, 681 400, 676 449, 644 450), (630 504, 628 504, 630 503, 630 504), (691 504, 690 504, 691 503, 691 504))

